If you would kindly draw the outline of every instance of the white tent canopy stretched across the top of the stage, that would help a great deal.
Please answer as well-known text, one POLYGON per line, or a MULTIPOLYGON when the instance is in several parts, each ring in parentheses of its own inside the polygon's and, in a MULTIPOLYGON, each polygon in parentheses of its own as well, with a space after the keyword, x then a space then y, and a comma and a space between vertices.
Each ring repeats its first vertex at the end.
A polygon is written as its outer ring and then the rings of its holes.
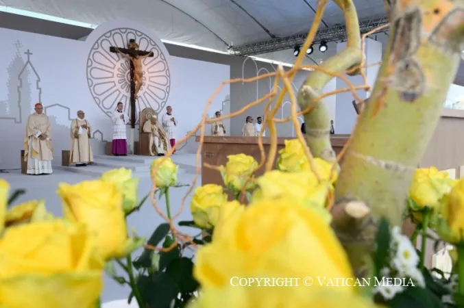
MULTIPOLYGON (((384 16, 382 0, 354 0, 361 20, 384 16)), ((308 31, 317 0, 0 0, 19 10, 90 25, 114 19, 138 21, 161 39, 219 51, 308 31)), ((321 27, 344 24, 329 2, 321 27)))

